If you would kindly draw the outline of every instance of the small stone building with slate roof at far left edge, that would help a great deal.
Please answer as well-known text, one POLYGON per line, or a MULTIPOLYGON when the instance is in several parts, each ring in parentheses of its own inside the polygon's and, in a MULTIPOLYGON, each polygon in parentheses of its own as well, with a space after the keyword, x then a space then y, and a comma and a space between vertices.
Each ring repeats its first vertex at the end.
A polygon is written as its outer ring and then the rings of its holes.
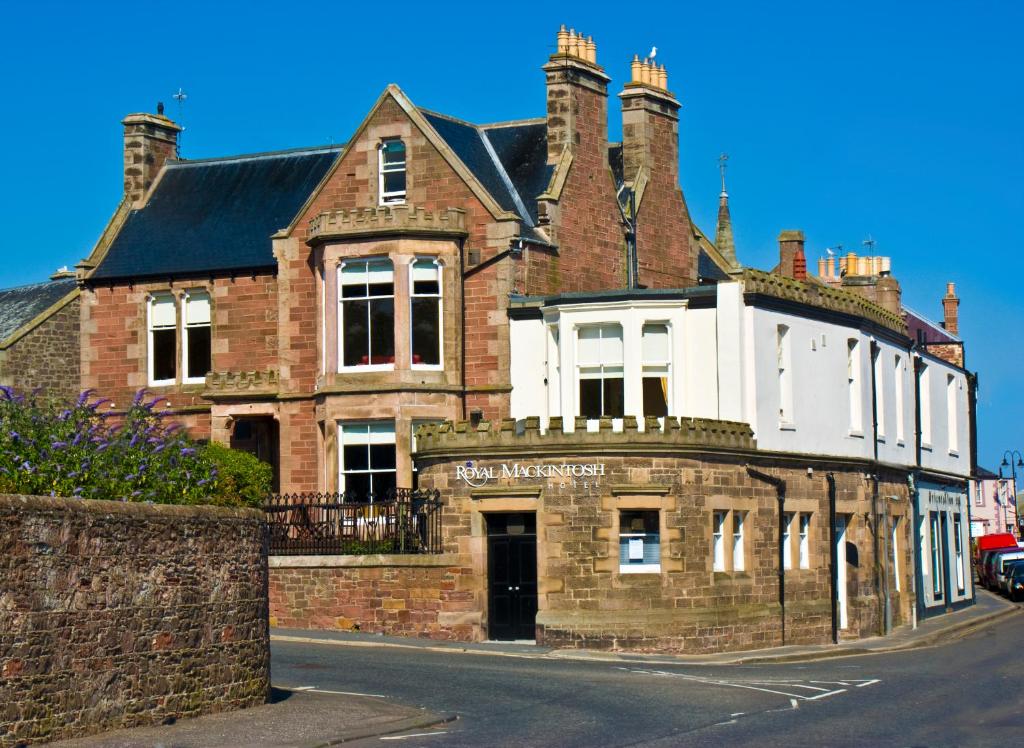
POLYGON ((70 399, 79 393, 79 290, 75 274, 0 289, 0 384, 70 399))

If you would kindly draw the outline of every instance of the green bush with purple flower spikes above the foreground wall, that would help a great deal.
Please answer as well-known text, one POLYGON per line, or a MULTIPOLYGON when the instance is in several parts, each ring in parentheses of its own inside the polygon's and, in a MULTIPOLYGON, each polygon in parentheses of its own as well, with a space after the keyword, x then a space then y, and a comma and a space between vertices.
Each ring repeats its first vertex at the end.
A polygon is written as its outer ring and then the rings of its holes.
POLYGON ((0 386, 0 493, 160 504, 238 504, 214 460, 142 389, 123 413, 91 390, 73 404, 0 386))

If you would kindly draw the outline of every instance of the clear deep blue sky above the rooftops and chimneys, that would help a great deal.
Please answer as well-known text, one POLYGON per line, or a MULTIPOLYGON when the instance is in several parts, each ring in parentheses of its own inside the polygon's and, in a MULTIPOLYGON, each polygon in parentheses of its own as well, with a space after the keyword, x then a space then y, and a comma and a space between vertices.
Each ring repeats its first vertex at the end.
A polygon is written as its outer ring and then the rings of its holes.
POLYGON ((540 117, 560 24, 590 34, 614 93, 658 47, 683 102, 681 179, 714 231, 728 152, 736 247, 770 267, 782 228, 893 258, 904 302, 962 298, 981 377, 979 461, 1024 450, 1024 6, 872 1, 10 3, 0 44, 0 287, 88 254, 121 194, 120 119, 188 94, 186 158, 347 138, 397 83, 475 122, 540 117), (555 7, 557 5, 557 8, 555 7), (624 8, 629 10, 624 13, 624 8))

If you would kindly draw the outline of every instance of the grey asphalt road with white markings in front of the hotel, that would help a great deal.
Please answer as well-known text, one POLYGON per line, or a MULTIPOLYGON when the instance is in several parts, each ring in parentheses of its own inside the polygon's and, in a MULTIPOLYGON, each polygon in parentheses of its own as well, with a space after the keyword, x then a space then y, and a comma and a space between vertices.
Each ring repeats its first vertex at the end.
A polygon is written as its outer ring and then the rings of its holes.
POLYGON ((679 666, 273 642, 279 687, 455 712, 358 745, 1024 745, 1024 617, 941 647, 814 663, 679 666))

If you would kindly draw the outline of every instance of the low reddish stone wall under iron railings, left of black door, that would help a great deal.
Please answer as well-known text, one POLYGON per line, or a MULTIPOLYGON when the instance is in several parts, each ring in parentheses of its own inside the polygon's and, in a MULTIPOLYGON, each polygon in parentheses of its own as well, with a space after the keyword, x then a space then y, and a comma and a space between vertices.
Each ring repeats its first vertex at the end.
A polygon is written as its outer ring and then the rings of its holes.
POLYGON ((273 556, 270 623, 470 640, 475 599, 458 556, 273 556))

